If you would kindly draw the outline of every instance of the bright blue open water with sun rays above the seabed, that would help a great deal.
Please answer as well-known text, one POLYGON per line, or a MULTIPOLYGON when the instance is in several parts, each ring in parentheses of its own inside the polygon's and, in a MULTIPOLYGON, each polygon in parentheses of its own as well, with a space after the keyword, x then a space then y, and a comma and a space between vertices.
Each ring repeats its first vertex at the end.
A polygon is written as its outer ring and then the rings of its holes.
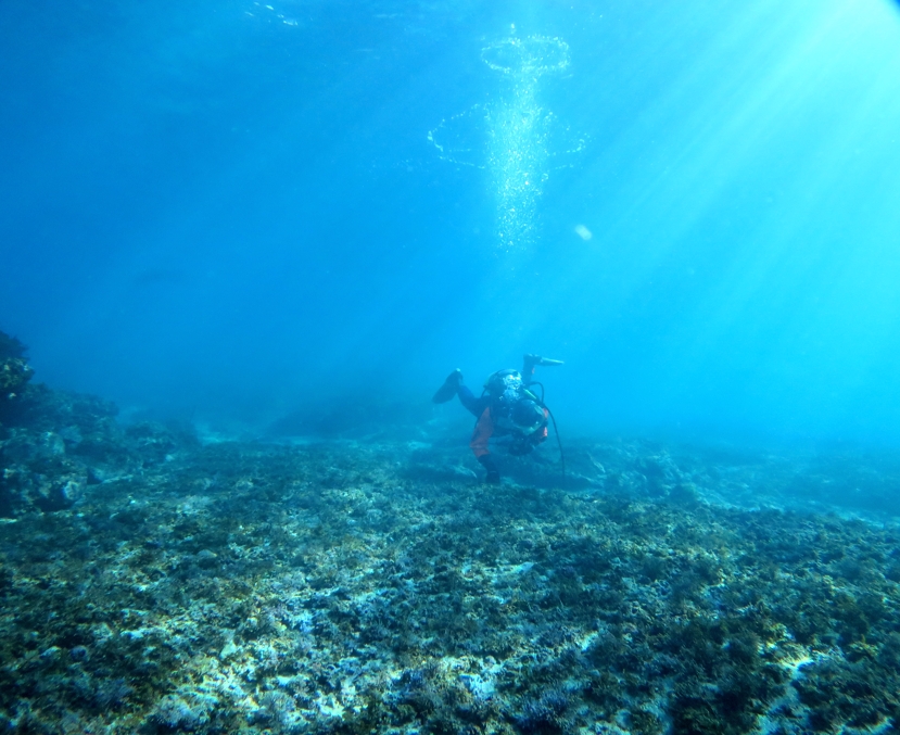
POLYGON ((896 3, 270 2, 0 5, 36 379, 265 426, 536 352, 568 431, 900 440, 896 3))

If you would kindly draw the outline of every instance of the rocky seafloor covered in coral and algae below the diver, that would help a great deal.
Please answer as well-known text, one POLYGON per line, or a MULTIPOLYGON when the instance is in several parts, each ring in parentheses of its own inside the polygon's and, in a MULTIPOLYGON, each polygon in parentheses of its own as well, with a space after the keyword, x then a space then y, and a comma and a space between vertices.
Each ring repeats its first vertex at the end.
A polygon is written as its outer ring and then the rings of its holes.
POLYGON ((0 733, 900 732, 885 456, 582 441, 489 486, 465 438, 204 444, 25 382, 0 733))

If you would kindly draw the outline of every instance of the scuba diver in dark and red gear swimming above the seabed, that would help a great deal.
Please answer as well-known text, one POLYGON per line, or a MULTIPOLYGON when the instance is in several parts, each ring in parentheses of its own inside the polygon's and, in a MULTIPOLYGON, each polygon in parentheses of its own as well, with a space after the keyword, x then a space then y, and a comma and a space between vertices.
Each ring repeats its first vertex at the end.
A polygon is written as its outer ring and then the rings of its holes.
MULTIPOLYGON (((484 382, 484 391, 478 398, 462 383, 462 372, 457 368, 432 398, 434 403, 446 403, 458 395, 459 402, 478 418, 469 446, 487 470, 485 482, 496 484, 500 481, 499 470, 487 448, 492 436, 509 436, 507 451, 517 456, 529 454, 547 438, 547 418, 553 419, 553 416, 544 405, 543 395, 538 398, 529 390, 532 384, 541 385, 533 380, 537 365, 562 365, 562 360, 525 355, 521 372, 497 370, 484 382)), ((542 393, 543 390, 541 385, 542 393)))

